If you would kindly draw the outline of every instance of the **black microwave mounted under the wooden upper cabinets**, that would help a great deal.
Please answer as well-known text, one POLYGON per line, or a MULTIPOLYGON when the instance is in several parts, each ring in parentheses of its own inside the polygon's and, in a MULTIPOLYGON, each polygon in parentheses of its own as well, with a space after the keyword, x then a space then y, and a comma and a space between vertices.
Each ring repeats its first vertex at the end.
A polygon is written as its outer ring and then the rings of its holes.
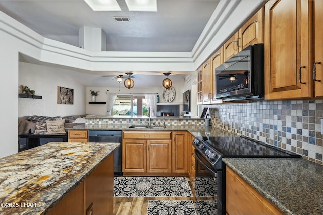
POLYGON ((216 98, 264 99, 264 45, 250 45, 220 65, 216 73, 216 98))

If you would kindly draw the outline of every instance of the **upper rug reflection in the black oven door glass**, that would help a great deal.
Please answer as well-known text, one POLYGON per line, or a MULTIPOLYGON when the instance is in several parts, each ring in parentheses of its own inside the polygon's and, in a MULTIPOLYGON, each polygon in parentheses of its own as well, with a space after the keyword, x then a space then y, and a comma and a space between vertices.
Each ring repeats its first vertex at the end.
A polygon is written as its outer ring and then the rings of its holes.
POLYGON ((218 186, 214 177, 195 177, 195 196, 215 197, 217 196, 218 186))

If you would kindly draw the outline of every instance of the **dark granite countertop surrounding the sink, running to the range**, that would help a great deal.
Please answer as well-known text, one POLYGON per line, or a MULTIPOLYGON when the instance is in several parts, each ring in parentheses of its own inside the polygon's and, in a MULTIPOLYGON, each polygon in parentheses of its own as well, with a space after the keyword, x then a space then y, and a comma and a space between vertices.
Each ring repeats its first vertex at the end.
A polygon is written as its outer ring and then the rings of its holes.
POLYGON ((233 134, 228 131, 224 131, 222 129, 218 129, 212 126, 196 126, 196 125, 167 125, 166 128, 163 129, 153 129, 153 128, 129 128, 129 124, 122 125, 113 125, 113 124, 104 124, 104 125, 88 125, 81 124, 75 125, 70 128, 66 128, 66 130, 137 130, 137 131, 145 131, 145 130, 155 130, 155 131, 188 131, 194 136, 237 136, 238 134, 233 134))

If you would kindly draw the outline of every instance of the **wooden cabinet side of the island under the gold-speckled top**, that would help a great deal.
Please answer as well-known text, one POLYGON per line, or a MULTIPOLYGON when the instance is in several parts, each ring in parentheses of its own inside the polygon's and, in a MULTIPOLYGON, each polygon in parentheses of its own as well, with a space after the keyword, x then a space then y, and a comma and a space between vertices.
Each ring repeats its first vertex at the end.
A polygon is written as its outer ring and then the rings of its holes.
POLYGON ((113 154, 47 214, 113 214, 113 154))

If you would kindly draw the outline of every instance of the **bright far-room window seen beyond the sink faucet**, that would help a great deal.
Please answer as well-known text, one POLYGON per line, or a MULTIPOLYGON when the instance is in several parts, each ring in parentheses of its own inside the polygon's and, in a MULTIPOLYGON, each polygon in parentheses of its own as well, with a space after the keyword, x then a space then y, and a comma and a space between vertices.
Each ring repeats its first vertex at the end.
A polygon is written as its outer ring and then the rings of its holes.
POLYGON ((113 105, 114 116, 147 116, 148 105, 145 96, 118 95, 113 105))

